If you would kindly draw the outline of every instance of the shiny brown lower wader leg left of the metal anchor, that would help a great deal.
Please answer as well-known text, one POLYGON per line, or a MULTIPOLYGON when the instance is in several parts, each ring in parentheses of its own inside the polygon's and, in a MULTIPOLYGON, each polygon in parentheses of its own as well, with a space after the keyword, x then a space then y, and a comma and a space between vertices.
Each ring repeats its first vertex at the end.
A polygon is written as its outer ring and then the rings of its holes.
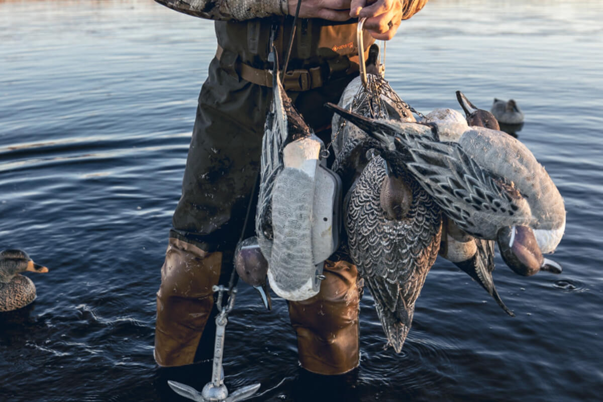
POLYGON ((194 363, 195 351, 213 308, 222 253, 207 253, 170 237, 157 292, 154 357, 158 365, 194 363))

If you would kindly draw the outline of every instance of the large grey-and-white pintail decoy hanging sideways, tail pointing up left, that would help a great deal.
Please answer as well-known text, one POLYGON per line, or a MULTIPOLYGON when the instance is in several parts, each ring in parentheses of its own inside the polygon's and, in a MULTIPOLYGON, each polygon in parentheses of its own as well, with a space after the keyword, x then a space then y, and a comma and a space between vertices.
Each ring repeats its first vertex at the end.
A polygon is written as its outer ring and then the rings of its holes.
POLYGON ((469 127, 451 109, 429 113, 431 123, 409 123, 328 106, 378 139, 385 159, 405 165, 459 228, 480 239, 497 240, 514 272, 561 272, 543 253, 552 253, 563 236, 563 198, 519 140, 469 127))

